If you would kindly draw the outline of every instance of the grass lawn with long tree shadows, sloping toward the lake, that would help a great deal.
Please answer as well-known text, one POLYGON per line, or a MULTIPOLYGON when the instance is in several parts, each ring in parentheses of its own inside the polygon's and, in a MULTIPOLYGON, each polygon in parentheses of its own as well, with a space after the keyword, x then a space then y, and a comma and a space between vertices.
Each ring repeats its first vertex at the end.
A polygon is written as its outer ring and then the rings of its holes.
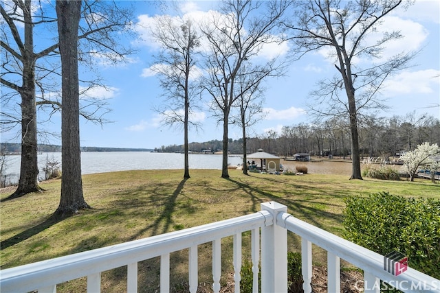
MULTIPOLYGON (((285 204, 292 215, 336 235, 343 235, 344 198, 379 191, 407 197, 440 198, 440 186, 429 180, 385 181, 347 176, 307 174, 245 176, 230 170, 142 170, 83 176, 85 200, 93 207, 63 221, 47 219, 58 207, 61 180, 41 183, 43 193, 1 202, 1 268, 60 257, 183 228, 198 226, 260 210, 274 200, 285 204)), ((0 189, 0 198, 6 198, 0 189)), ((223 255, 232 255, 231 239, 223 240, 223 255)), ((289 236, 289 249, 298 250, 298 239, 289 236)), ((248 247, 248 237, 243 246, 248 247)), ((210 283, 210 244, 199 246, 199 281, 210 283)), ((246 255, 246 252, 244 252, 246 255)), ((171 276, 176 291, 186 290, 188 252, 171 255, 171 276)), ((325 263, 325 255, 316 253, 325 263)), ((158 259, 143 261, 139 268, 140 292, 157 290, 158 259)), ((223 271, 232 272, 232 258, 223 257, 223 271)), ((119 268, 102 274, 103 292, 122 292, 126 274, 119 268)), ((223 277, 223 282, 225 282, 223 277)), ((58 292, 80 292, 85 279, 58 286, 58 292)), ((173 287, 173 286, 172 286, 173 287)))

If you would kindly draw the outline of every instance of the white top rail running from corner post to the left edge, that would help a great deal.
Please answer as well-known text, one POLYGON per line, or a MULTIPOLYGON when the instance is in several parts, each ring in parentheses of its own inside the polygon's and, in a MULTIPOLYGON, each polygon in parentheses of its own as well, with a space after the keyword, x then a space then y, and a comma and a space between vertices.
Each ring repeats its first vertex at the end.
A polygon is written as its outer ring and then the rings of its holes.
POLYGON ((0 270, 1 292, 29 292, 273 224, 267 211, 0 270))

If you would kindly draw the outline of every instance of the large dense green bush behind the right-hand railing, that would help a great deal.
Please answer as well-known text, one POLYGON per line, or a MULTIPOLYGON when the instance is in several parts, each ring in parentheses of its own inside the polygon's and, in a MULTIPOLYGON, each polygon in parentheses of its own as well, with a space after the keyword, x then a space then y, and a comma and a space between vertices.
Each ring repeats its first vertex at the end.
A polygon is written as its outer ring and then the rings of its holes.
POLYGON ((440 279, 440 200, 382 192, 345 202, 347 239, 381 255, 399 251, 408 266, 440 279))

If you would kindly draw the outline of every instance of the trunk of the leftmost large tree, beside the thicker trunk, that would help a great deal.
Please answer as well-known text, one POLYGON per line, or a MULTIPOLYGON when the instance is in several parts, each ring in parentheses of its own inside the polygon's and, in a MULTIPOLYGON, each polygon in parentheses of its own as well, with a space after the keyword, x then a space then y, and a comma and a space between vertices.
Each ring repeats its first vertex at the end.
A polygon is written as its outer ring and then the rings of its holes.
POLYGON ((39 191, 39 167, 36 140, 35 56, 31 1, 25 1, 25 42, 23 48, 23 84, 21 95, 21 166, 17 190, 9 198, 39 191))

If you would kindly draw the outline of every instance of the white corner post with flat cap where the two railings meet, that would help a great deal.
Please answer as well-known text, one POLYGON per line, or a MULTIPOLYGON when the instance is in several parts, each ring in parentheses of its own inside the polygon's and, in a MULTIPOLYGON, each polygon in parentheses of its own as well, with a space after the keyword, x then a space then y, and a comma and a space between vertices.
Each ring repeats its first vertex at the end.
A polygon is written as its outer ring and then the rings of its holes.
POLYGON ((276 225, 276 215, 287 212, 278 202, 265 202, 274 224, 261 228, 261 292, 287 292, 287 229, 276 225))

